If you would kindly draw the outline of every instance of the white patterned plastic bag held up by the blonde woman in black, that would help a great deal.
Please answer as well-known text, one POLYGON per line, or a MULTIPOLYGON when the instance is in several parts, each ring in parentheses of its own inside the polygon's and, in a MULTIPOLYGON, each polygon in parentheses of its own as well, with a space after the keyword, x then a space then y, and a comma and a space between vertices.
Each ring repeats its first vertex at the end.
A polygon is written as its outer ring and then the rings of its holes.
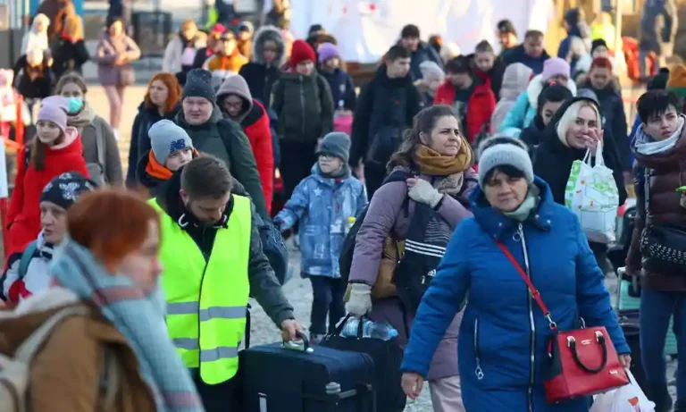
POLYGON ((565 205, 579 217, 589 241, 615 241, 619 190, 611 169, 605 166, 603 146, 598 143, 596 165, 591 166, 590 149, 583 160, 575 160, 565 189, 565 205))

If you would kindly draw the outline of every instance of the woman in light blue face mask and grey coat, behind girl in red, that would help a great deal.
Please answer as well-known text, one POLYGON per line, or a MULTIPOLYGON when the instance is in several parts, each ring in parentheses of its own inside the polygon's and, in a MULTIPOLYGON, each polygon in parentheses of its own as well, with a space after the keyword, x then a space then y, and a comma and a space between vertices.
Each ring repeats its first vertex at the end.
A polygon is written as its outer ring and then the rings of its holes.
POLYGON ((65 73, 54 88, 54 94, 69 100, 67 125, 81 133, 83 157, 90 178, 98 184, 121 185, 121 158, 117 139, 109 124, 88 105, 86 80, 77 72, 65 73))

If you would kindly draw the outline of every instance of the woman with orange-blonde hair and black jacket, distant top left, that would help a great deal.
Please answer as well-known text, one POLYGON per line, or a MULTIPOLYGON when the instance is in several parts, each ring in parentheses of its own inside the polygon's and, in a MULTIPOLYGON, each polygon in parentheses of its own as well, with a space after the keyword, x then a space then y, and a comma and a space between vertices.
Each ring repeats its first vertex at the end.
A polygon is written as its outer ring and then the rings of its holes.
POLYGON ((74 14, 64 21, 64 30, 53 46, 53 55, 53 71, 57 79, 67 71, 81 73, 81 66, 90 60, 79 15, 74 14))

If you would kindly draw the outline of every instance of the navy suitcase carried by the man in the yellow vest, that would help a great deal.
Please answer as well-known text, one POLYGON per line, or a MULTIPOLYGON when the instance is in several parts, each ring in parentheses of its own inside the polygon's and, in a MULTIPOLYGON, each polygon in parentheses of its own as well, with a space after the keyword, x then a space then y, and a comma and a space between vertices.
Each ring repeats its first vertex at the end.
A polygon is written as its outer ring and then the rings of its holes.
POLYGON ((364 353, 272 343, 242 350, 238 371, 243 412, 376 412, 374 362, 364 353))

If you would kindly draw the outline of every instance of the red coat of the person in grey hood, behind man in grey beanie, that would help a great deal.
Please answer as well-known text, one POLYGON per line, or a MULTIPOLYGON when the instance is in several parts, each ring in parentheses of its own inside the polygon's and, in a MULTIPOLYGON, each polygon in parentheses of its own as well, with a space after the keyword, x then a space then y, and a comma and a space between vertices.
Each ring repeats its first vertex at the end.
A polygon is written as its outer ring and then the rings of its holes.
POLYGON ((267 111, 257 100, 253 99, 253 107, 245 119, 240 122, 250 147, 255 155, 257 172, 260 173, 264 200, 267 210, 272 213, 272 195, 274 193, 274 153, 272 147, 272 130, 269 127, 267 111))

